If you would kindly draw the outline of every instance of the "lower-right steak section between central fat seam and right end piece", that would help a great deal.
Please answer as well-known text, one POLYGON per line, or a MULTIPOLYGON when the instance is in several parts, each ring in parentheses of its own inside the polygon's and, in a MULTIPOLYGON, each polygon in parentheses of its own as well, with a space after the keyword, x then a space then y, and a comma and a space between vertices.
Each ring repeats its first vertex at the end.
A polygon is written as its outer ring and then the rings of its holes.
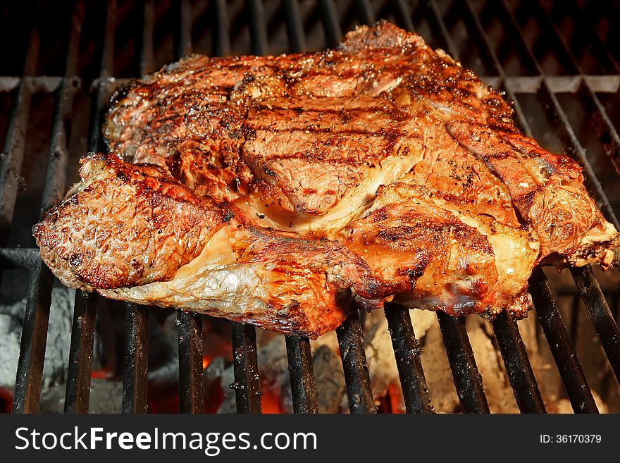
POLYGON ((517 220, 505 185, 436 127, 437 144, 414 171, 379 188, 343 242, 409 307, 523 314, 538 242, 517 220))

